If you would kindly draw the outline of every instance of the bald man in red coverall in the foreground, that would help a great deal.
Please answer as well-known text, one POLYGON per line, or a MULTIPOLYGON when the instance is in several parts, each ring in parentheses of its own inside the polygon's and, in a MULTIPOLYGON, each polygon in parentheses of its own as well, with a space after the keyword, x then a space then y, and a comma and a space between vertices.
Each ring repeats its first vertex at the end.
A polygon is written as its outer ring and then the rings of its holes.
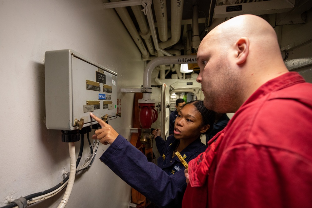
POLYGON ((235 112, 189 162, 184 208, 312 207, 312 84, 261 17, 223 22, 197 53, 204 104, 235 112))

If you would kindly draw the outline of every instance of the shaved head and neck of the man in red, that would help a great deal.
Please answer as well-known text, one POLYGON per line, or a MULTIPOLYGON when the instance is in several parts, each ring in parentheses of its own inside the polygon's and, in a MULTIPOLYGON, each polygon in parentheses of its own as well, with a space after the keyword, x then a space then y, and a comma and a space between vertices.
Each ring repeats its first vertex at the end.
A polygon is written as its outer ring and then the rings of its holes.
POLYGON ((197 53, 205 105, 235 112, 266 81, 288 70, 271 25, 255 15, 234 17, 215 27, 197 53))

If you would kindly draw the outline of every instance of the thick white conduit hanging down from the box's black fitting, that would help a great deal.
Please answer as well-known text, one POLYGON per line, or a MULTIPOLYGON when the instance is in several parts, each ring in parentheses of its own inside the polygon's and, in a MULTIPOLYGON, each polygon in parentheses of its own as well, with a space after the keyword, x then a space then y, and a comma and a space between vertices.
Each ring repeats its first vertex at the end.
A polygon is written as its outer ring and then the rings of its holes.
POLYGON ((67 201, 69 199, 69 196, 71 196, 71 190, 73 189, 74 181, 75 181, 75 177, 76 177, 75 143, 74 142, 68 143, 68 148, 69 148, 69 157, 70 157, 70 161, 71 161, 71 170, 69 173, 69 179, 68 179, 68 184, 67 184, 65 194, 64 194, 63 199, 61 200, 61 202, 57 208, 63 208, 66 206, 67 201))

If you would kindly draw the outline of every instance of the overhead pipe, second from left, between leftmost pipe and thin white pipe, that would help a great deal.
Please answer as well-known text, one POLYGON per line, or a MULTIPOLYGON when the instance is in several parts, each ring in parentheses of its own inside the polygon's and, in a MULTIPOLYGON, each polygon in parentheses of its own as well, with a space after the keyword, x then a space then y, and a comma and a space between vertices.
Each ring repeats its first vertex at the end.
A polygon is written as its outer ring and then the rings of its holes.
POLYGON ((155 55, 154 46, 151 40, 151 32, 146 24, 144 13, 142 12, 142 6, 131 6, 135 19, 137 20, 140 28, 140 35, 143 37, 147 49, 151 55, 155 55))

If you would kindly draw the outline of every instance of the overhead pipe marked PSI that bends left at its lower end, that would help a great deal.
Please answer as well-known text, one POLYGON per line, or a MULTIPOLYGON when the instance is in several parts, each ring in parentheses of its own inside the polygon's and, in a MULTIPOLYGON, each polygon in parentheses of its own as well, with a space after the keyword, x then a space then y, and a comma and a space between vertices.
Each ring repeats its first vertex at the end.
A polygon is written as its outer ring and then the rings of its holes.
POLYGON ((180 40, 184 0, 171 0, 171 38, 160 42, 159 47, 168 48, 180 40))

